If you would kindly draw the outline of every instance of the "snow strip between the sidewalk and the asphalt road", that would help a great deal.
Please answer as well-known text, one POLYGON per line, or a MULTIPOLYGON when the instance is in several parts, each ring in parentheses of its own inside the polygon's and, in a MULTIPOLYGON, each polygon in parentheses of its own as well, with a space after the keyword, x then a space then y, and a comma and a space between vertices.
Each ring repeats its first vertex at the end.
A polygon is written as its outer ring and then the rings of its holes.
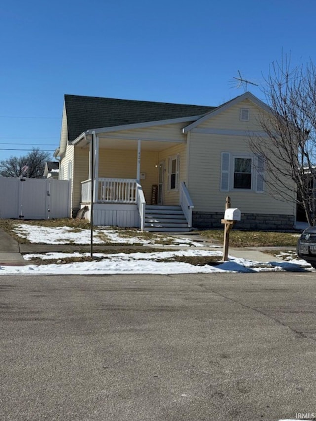
MULTIPOLYGON (((104 254, 95 253, 95 257, 101 258, 99 261, 92 262, 74 262, 65 264, 50 265, 26 265, 26 266, 0 266, 0 275, 7 274, 64 274, 64 275, 82 275, 82 274, 161 274, 172 275, 179 273, 254 273, 254 272, 277 272, 277 271, 303 271, 312 268, 305 261, 294 262, 254 262, 247 259, 235 258, 229 256, 229 261, 218 265, 197 266, 190 263, 172 261, 172 258, 178 256, 221 256, 219 251, 210 250, 178 250, 172 252, 153 252, 153 253, 115 253, 104 254), (162 262, 159 260, 164 259, 162 262), (170 259, 170 261, 165 261, 170 259)), ((89 253, 45 253, 45 254, 27 254, 26 260, 33 258, 58 259, 61 261, 67 257, 89 256, 89 253)))

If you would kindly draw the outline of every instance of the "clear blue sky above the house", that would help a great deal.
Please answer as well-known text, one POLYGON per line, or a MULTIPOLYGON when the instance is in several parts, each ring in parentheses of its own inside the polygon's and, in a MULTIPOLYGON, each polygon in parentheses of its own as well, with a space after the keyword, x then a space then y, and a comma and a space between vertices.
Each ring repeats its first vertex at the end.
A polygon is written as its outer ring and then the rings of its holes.
POLYGON ((282 50, 316 63, 315 17, 315 0, 2 2, 0 160, 58 146, 65 93, 216 106, 282 50))

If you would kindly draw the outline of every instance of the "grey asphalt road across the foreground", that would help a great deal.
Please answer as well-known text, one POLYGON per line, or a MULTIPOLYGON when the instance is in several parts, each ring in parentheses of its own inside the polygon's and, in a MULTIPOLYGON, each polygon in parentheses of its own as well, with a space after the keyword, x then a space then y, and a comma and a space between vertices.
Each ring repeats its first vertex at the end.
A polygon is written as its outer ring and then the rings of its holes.
POLYGON ((316 275, 0 276, 1 420, 316 413, 316 275))

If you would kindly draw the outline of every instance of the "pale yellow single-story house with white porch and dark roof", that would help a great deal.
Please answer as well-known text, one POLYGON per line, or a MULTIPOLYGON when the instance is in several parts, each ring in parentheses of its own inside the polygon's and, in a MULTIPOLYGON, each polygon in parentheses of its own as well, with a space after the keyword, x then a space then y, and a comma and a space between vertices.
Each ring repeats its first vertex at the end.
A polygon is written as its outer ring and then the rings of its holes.
MULTIPOLYGON (((225 198, 239 228, 291 229, 296 205, 264 183, 249 136, 267 137, 268 107, 246 92, 219 107, 65 95, 60 179, 71 209, 96 225, 187 231, 221 227, 225 198)), ((271 175, 273 176, 273 175, 271 175)))

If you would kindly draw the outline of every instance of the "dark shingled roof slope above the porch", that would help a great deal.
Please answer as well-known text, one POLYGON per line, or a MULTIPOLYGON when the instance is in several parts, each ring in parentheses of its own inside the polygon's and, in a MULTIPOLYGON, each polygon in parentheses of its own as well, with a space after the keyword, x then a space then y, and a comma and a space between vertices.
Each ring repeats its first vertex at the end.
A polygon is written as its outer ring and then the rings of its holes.
POLYGON ((203 115, 216 107, 65 95, 68 140, 89 129, 203 115))

